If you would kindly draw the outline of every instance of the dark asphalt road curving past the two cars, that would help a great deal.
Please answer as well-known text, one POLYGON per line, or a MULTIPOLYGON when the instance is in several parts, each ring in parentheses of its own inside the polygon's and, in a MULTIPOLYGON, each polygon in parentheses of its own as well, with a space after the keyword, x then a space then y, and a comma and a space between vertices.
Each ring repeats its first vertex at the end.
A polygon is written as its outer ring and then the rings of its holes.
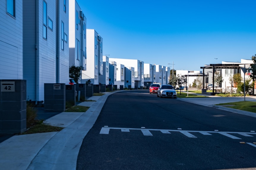
POLYGON ((255 122, 148 90, 114 93, 83 140, 77 169, 256 169, 255 122))

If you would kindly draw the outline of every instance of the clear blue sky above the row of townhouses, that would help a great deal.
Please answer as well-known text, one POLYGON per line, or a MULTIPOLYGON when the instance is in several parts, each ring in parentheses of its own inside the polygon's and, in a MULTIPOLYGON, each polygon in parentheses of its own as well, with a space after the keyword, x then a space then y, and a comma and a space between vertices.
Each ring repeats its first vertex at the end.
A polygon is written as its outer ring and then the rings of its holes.
POLYGON ((256 54, 255 0, 77 2, 111 58, 202 71, 256 54))

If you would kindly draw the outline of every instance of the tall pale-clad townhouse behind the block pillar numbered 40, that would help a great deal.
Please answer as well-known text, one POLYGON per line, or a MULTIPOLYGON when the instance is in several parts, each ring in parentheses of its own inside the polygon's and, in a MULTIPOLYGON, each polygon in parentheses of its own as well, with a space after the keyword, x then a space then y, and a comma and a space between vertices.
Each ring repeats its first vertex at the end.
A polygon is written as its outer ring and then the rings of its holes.
POLYGON ((44 83, 68 83, 68 3, 23 0, 23 79, 28 100, 44 100, 44 83))

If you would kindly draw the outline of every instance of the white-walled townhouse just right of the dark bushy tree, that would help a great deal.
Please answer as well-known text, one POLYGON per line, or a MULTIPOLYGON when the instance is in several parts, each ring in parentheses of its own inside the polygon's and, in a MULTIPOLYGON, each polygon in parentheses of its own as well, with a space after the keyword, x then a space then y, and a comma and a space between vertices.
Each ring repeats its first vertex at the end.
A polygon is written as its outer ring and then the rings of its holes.
POLYGON ((86 70, 82 71, 82 83, 90 80, 99 85, 99 76, 103 75, 103 39, 94 29, 86 29, 86 45, 86 70))

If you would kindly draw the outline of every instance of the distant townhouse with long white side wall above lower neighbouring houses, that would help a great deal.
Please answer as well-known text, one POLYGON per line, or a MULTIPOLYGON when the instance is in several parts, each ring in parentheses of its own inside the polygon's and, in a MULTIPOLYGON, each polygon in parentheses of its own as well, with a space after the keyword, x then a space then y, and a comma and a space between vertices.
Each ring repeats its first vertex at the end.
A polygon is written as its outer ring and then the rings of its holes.
POLYGON ((118 59, 109 58, 111 61, 116 61, 117 64, 123 64, 125 67, 134 67, 135 89, 143 88, 144 86, 144 61, 136 59, 118 59))

